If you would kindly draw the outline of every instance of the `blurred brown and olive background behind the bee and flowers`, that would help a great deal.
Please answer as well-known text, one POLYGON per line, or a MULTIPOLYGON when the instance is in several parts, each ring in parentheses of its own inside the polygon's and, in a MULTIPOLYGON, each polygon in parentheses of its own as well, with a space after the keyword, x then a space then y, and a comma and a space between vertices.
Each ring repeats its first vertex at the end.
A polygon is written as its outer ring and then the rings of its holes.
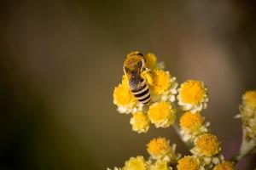
MULTIPOLYGON (((230 158, 241 143, 241 94, 256 88, 252 1, 1 1, 0 169, 106 169, 148 157, 172 128, 131 131, 113 105, 125 54, 153 52, 178 82, 210 94, 204 111, 230 158)), ((240 169, 256 167, 247 156, 240 169)))

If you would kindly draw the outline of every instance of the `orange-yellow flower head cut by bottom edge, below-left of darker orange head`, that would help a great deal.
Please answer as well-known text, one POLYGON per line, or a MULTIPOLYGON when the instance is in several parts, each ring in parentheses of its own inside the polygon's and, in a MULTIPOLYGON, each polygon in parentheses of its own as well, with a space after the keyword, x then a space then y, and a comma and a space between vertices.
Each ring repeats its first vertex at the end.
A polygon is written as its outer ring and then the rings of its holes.
POLYGON ((177 161, 178 170, 199 170, 200 161, 192 156, 184 156, 177 161))

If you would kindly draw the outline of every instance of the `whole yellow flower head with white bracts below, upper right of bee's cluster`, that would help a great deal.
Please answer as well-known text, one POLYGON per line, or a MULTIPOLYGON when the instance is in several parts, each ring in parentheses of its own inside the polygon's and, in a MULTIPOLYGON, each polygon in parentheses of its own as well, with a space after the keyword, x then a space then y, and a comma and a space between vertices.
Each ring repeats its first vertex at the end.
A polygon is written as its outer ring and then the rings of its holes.
POLYGON ((184 111, 201 111, 207 107, 207 88, 203 82, 188 80, 178 89, 177 99, 184 111))

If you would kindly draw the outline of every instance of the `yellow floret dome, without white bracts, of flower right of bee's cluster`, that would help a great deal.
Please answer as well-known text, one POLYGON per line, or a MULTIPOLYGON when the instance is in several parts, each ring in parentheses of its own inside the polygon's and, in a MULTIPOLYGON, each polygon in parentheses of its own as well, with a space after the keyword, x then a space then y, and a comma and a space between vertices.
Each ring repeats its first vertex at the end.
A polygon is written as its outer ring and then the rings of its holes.
POLYGON ((207 91, 202 82, 188 80, 181 85, 179 94, 183 103, 197 105, 203 101, 207 91))

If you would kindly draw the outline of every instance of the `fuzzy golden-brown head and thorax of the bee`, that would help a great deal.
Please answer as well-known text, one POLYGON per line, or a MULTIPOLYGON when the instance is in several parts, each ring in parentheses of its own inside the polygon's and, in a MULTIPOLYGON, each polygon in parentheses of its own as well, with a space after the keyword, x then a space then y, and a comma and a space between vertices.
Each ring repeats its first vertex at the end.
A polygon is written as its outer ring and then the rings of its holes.
POLYGON ((124 62, 124 71, 129 77, 135 77, 141 74, 145 68, 145 61, 143 59, 143 54, 139 52, 131 52, 126 55, 124 62))

